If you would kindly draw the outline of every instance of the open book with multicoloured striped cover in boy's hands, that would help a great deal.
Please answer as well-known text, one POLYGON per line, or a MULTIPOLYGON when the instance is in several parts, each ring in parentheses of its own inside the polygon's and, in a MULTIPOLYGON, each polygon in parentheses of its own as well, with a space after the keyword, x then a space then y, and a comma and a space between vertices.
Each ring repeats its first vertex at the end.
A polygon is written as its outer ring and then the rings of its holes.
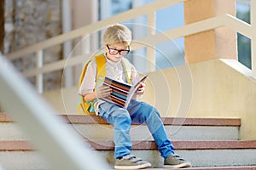
POLYGON ((109 88, 111 88, 112 93, 110 94, 110 97, 102 98, 102 100, 111 102, 115 105, 119 105, 120 107, 127 108, 133 94, 135 94, 137 88, 139 88, 139 83, 143 82, 143 80, 145 80, 146 77, 148 77, 148 75, 140 78, 133 85, 125 82, 118 82, 109 77, 105 77, 103 86, 108 86, 109 88))

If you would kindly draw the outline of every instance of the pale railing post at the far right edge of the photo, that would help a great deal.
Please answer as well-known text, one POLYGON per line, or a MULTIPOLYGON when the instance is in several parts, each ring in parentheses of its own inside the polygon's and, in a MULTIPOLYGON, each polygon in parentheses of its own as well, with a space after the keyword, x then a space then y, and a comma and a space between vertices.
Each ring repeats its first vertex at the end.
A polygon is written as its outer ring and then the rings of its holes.
MULTIPOLYGON (((256 30, 256 1, 251 0, 251 26, 252 30, 256 30)), ((252 76, 256 79, 256 33, 253 32, 253 37, 251 39, 251 59, 252 59, 252 76)))

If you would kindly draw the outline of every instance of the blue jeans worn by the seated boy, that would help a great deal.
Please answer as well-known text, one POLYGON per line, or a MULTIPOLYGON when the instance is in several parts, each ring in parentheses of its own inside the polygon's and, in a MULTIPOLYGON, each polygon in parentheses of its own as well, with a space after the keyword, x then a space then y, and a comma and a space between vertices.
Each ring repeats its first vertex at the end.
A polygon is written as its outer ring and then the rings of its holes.
POLYGON ((146 123, 149 132, 164 158, 174 154, 174 147, 166 136, 166 130, 159 112, 152 106, 137 100, 131 100, 127 110, 108 102, 99 105, 99 116, 113 125, 114 158, 131 153, 131 122, 146 123))

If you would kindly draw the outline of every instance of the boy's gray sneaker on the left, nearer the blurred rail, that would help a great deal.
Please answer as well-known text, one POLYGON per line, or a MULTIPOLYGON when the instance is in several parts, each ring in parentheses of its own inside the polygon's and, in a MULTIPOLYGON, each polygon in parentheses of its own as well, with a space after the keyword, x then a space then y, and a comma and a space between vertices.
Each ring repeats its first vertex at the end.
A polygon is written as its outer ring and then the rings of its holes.
POLYGON ((122 159, 116 159, 114 163, 115 169, 142 169, 146 167, 151 167, 148 161, 143 161, 132 155, 123 156, 122 159))

